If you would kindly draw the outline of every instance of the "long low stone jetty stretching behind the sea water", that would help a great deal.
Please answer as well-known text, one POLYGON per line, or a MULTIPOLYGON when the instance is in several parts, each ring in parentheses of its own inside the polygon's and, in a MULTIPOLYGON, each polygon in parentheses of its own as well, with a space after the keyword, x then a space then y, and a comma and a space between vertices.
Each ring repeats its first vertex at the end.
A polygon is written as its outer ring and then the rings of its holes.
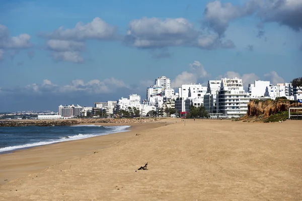
POLYGON ((147 123, 157 122, 160 118, 134 118, 134 119, 68 119, 68 120, 0 120, 0 127, 18 127, 18 126, 73 126, 78 124, 94 123, 147 123))

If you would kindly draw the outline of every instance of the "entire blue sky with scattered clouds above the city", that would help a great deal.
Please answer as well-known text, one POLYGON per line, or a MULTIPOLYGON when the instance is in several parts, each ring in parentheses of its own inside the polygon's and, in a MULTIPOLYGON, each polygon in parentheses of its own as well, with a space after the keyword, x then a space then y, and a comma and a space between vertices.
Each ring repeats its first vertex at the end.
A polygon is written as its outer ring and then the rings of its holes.
POLYGON ((172 86, 302 76, 302 1, 0 3, 0 111, 93 106, 172 86))

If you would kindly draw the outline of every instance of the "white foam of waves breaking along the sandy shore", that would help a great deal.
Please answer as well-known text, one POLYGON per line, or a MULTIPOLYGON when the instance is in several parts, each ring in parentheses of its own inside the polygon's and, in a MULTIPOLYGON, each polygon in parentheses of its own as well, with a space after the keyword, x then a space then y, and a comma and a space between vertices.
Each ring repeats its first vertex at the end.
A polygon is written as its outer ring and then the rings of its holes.
POLYGON ((108 130, 108 131, 105 131, 100 134, 85 134, 84 135, 84 134, 80 133, 78 135, 61 137, 58 140, 42 141, 42 142, 29 143, 29 144, 24 144, 24 145, 4 147, 4 148, 0 148, 0 152, 13 151, 13 150, 17 150, 17 149, 25 149, 25 148, 29 148, 29 147, 36 147, 36 146, 71 141, 71 140, 80 140, 80 139, 91 138, 91 137, 95 137, 95 136, 108 135, 111 133, 126 132, 127 128, 130 128, 130 126, 116 126, 116 127, 111 127, 111 128, 109 127, 108 129, 112 129, 112 130, 108 130))

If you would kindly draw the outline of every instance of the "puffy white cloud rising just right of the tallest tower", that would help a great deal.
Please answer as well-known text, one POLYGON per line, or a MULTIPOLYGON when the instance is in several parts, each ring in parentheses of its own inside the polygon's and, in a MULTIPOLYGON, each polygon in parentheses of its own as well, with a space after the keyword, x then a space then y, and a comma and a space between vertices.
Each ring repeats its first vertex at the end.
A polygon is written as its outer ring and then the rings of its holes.
POLYGON ((182 84, 203 83, 209 74, 205 71, 203 65, 199 61, 189 64, 189 71, 184 71, 177 75, 171 82, 171 87, 176 88, 182 84))

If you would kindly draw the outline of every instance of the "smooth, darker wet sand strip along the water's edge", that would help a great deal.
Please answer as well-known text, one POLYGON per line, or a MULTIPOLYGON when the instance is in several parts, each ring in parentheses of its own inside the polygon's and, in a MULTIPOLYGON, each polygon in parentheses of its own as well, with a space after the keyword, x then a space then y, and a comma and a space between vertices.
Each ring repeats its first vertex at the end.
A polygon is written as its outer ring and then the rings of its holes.
POLYGON ((0 154, 0 186, 13 179, 42 171, 45 168, 49 168, 66 160, 93 154, 96 150, 104 149, 122 142, 125 139, 135 137, 135 132, 158 128, 169 123, 159 121, 144 124, 123 123, 125 125, 113 123, 92 124, 102 126, 130 126, 130 128, 118 133, 34 146, 0 154), (52 156, 48 156, 47 152, 51 152, 52 156), (26 160, 24 160, 24 158, 26 158, 26 160), (20 170, 20 167, 22 167, 22 170, 20 170))

